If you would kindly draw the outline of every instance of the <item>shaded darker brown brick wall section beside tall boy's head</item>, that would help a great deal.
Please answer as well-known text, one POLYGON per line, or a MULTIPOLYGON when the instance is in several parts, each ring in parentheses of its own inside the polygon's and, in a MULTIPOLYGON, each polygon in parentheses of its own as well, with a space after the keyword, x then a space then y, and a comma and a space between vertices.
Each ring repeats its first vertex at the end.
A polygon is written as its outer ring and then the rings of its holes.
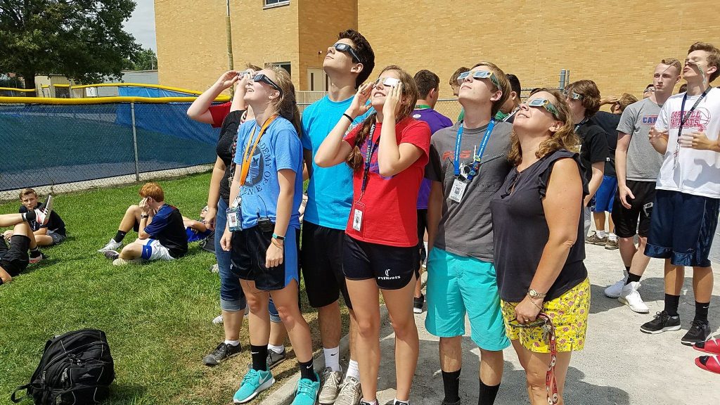
POLYGON ((300 2, 300 89, 309 90, 307 68, 323 68, 323 59, 338 32, 357 29, 357 0, 300 2))

